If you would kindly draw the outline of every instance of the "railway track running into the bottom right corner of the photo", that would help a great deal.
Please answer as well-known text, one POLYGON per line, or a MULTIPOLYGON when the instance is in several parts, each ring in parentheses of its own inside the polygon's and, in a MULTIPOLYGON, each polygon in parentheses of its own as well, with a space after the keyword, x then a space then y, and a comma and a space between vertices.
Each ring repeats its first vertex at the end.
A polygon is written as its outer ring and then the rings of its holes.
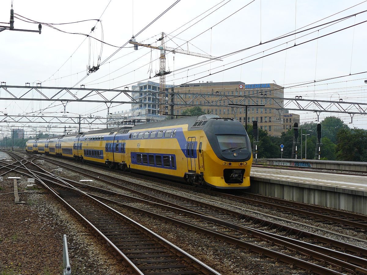
MULTIPOLYGON (((62 180, 65 181, 65 179, 62 180)), ((317 274, 340 274, 339 271, 342 272, 343 270, 367 273, 367 269, 364 268, 367 265, 367 260, 360 257, 326 249, 324 247, 310 245, 308 243, 286 237, 283 237, 282 239, 275 234, 263 232, 261 230, 253 230, 222 219, 215 219, 208 215, 192 212, 190 209, 185 210, 172 206, 167 207, 161 203, 154 203, 152 201, 146 201, 136 197, 132 198, 106 189, 81 184, 76 181, 66 181, 72 183, 74 186, 78 186, 77 188, 84 192, 92 191, 94 194, 91 195, 95 198, 103 199, 113 205, 120 205, 120 207, 123 206, 122 209, 129 208, 134 212, 152 216, 155 219, 161 219, 189 228, 190 230, 196 230, 198 232, 223 239, 226 242, 235 244, 239 247, 250 249, 258 253, 260 252, 272 258, 279 258, 286 263, 292 263, 298 267, 312 270, 317 274), (101 194, 104 194, 104 198, 101 198, 101 194), (127 202, 129 200, 130 203, 127 202), (137 208, 136 206, 131 205, 131 201, 139 201, 139 203, 143 205, 140 208, 137 208), (144 210, 144 208, 147 208, 146 204, 149 204, 149 211, 144 210), (155 213, 152 212, 153 209, 155 210, 155 213), (225 231, 225 234, 222 231, 225 231), (252 239, 248 239, 249 235, 252 239), (253 244, 253 242, 261 241, 265 241, 267 244, 262 243, 261 246, 253 244), (283 253, 280 253, 279 251, 283 253), (292 257, 294 256, 294 251, 300 253, 297 255, 297 258, 292 257), (332 254, 333 256, 328 256, 328 254, 332 254), (308 262, 310 261, 310 258, 312 258, 313 263, 308 262), (340 258, 343 260, 340 260, 340 258), (319 261, 319 264, 315 264, 315 261, 319 261), (336 270, 323 267, 325 262, 326 264, 336 266, 336 270)))

